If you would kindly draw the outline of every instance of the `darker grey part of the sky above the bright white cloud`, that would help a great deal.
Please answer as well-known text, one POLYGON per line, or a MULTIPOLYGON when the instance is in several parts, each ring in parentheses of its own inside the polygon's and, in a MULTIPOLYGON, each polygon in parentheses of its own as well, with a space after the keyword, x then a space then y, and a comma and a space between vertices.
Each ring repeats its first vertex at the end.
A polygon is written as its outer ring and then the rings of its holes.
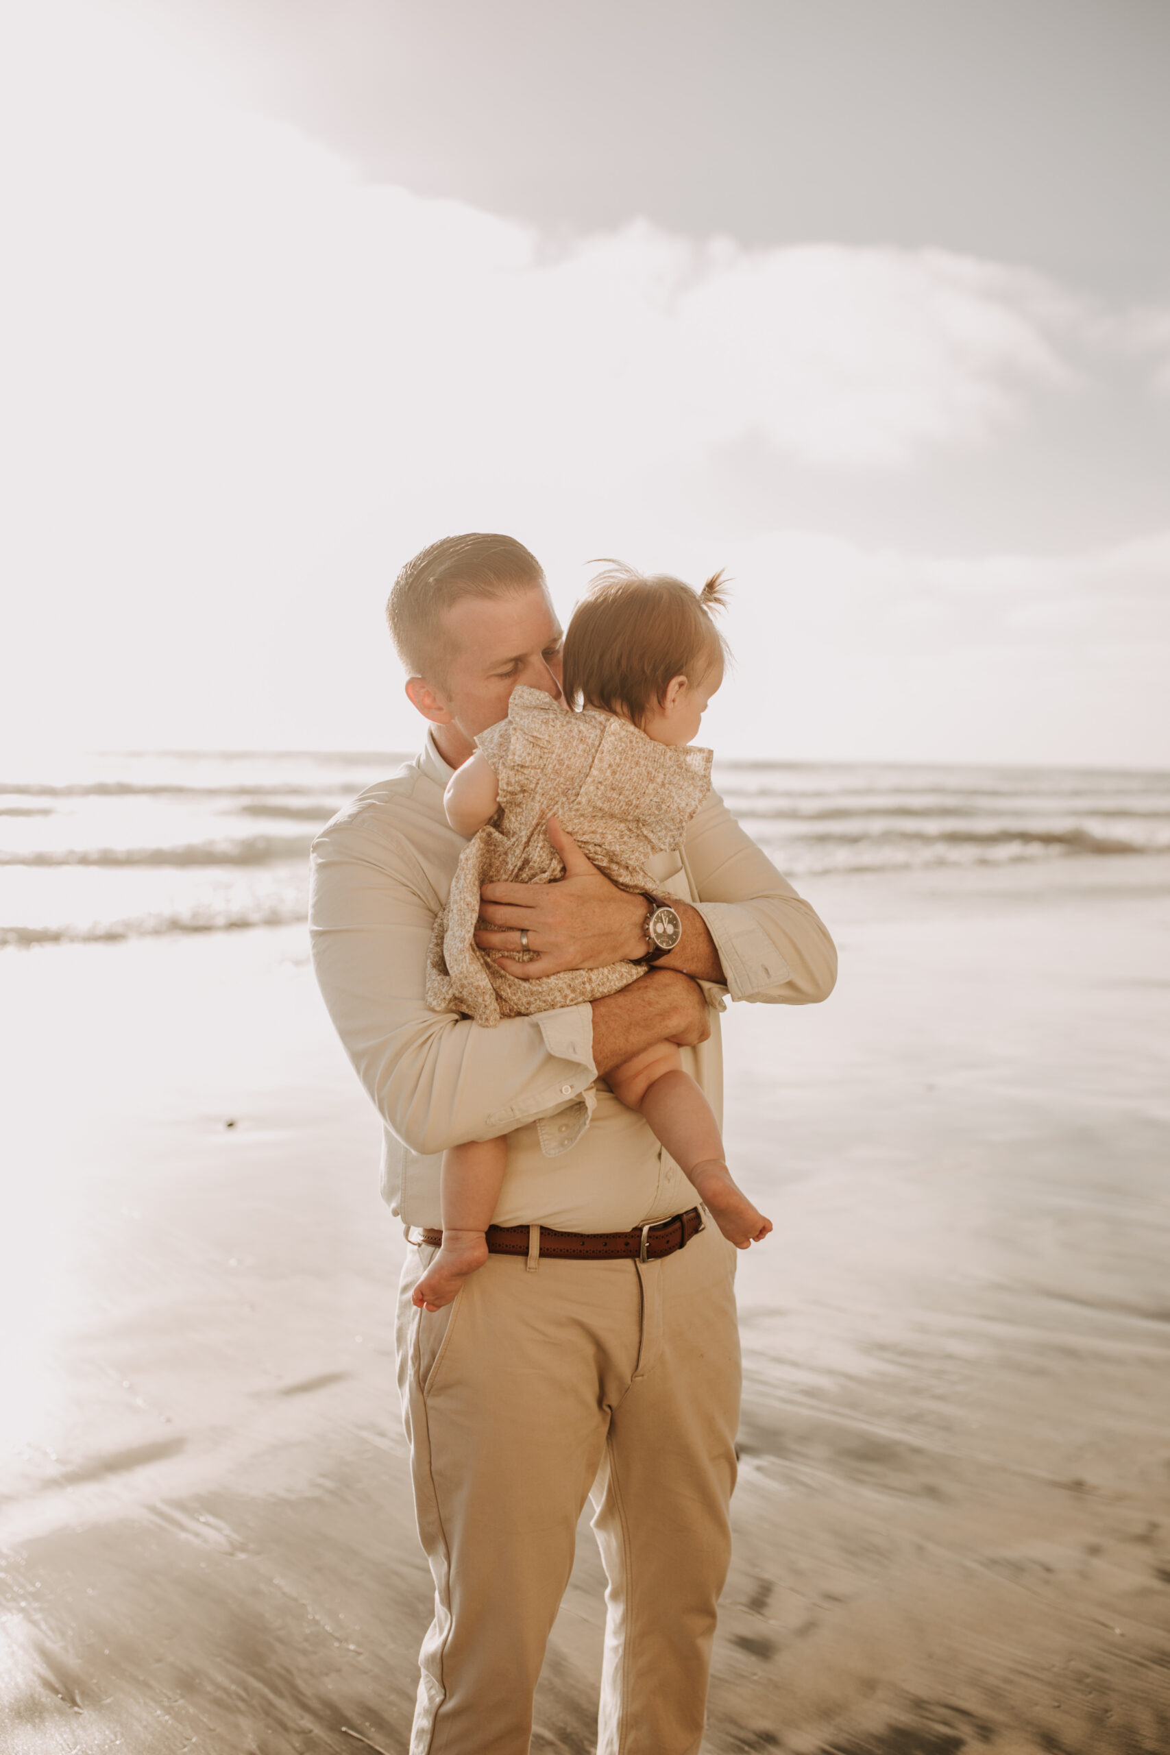
POLYGON ((1165 0, 149 0, 377 181, 553 232, 1166 288, 1165 0))

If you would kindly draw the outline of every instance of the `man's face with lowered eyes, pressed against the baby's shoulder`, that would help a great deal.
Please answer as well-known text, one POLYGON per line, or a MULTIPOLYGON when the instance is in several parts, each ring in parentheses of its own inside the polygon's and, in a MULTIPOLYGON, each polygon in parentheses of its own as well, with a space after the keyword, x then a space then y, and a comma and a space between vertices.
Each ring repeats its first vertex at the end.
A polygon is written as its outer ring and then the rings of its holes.
POLYGON ((507 597, 465 597, 444 616, 447 667, 433 693, 470 742, 507 720, 512 690, 561 698, 565 635, 542 584, 507 597))

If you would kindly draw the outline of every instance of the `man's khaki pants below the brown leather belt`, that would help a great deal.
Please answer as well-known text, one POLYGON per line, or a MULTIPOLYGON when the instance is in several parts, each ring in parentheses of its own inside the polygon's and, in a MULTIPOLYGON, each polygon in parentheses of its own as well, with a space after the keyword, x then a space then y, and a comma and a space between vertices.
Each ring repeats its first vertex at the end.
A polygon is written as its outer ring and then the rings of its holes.
POLYGON ((735 1250, 661 1262, 493 1255, 454 1304, 398 1304, 398 1383, 435 1620, 410 1755, 526 1755, 593 1499, 609 1588, 598 1755, 695 1755, 730 1560, 735 1250))

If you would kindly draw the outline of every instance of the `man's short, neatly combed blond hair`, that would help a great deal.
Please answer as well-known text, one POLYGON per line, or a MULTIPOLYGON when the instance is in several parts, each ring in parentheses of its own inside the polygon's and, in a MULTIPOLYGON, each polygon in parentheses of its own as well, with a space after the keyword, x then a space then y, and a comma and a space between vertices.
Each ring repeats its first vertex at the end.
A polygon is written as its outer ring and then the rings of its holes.
POLYGON ((544 569, 516 537, 442 537, 409 560, 386 600, 386 621, 407 676, 442 681, 451 656, 442 616, 465 597, 512 597, 544 586, 544 569))

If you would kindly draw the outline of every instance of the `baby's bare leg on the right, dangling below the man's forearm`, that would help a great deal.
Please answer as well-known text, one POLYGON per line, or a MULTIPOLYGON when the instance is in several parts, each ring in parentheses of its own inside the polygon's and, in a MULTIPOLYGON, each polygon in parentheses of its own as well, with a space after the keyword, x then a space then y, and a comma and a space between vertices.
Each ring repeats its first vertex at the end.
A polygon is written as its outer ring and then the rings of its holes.
POLYGON ((689 1072, 682 1071, 674 1042, 656 1042, 633 1055, 607 1072, 605 1081, 628 1109, 646 1116, 737 1250, 768 1236, 772 1220, 731 1181, 710 1104, 689 1072))

